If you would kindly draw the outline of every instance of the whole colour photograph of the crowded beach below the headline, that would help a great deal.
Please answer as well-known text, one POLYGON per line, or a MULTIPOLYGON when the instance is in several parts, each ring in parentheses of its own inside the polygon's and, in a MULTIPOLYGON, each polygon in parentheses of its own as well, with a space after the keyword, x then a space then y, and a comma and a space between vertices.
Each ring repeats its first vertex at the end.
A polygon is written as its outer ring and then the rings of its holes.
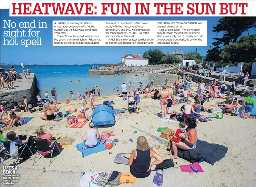
POLYGON ((1 186, 256 186, 256 17, 143 18, 206 20, 207 46, 53 46, 53 20, 141 19, 0 16, 47 23, 1 38, 1 186))

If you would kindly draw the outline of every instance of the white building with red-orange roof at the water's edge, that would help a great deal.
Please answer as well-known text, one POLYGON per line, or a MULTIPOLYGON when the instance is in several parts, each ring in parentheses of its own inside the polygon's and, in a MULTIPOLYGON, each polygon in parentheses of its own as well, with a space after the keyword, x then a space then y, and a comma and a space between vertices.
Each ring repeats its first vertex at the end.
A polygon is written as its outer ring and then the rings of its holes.
POLYGON ((149 59, 143 59, 141 58, 140 53, 139 54, 131 54, 126 53, 122 56, 123 66, 133 65, 133 66, 148 66, 149 65, 149 59))

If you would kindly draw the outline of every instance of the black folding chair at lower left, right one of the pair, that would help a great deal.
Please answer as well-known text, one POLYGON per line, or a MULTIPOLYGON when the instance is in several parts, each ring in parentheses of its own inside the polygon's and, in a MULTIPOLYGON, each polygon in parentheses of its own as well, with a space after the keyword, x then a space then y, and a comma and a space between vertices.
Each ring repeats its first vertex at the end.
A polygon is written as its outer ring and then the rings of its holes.
MULTIPOLYGON (((53 154, 55 146, 57 146, 57 148, 60 152, 59 146, 57 145, 58 139, 55 139, 55 141, 49 146, 49 143, 48 143, 46 137, 34 137, 33 138, 33 140, 35 141, 35 145, 37 147, 37 153, 35 154, 35 158, 37 157, 37 154, 51 154, 49 165, 35 165, 35 166, 50 166, 51 165, 52 154, 53 154), (40 153, 39 153, 39 151, 40 151, 40 153)), ((33 166, 35 164, 35 158, 34 158, 33 166)))

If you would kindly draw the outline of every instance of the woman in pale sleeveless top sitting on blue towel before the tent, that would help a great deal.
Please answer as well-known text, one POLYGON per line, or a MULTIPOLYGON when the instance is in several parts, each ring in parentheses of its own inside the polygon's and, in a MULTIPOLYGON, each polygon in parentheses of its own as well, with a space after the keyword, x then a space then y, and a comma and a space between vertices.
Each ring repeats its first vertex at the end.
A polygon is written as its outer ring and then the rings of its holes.
POLYGON ((85 135, 82 136, 85 147, 96 147, 101 142, 101 134, 98 129, 94 128, 93 122, 89 123, 89 129, 85 131, 85 135))

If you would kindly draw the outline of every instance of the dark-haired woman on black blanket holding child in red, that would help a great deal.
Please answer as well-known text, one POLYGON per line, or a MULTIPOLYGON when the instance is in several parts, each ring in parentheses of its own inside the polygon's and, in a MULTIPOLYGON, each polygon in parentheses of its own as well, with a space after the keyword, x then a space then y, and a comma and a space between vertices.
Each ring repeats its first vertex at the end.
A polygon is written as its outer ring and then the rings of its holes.
MULTIPOLYGON (((175 143, 172 141, 172 147, 171 150, 167 153, 167 155, 171 155, 171 159, 178 158, 178 148, 183 150, 191 150, 196 148, 196 141, 197 141, 197 131, 196 131, 196 121, 192 118, 186 119, 186 131, 187 135, 181 135, 178 134, 178 136, 182 139, 182 142, 175 143), (173 153, 173 154, 172 154, 173 153)), ((176 138, 174 136, 174 138, 176 138)), ((170 147, 167 147, 167 149, 170 149, 170 147)))

